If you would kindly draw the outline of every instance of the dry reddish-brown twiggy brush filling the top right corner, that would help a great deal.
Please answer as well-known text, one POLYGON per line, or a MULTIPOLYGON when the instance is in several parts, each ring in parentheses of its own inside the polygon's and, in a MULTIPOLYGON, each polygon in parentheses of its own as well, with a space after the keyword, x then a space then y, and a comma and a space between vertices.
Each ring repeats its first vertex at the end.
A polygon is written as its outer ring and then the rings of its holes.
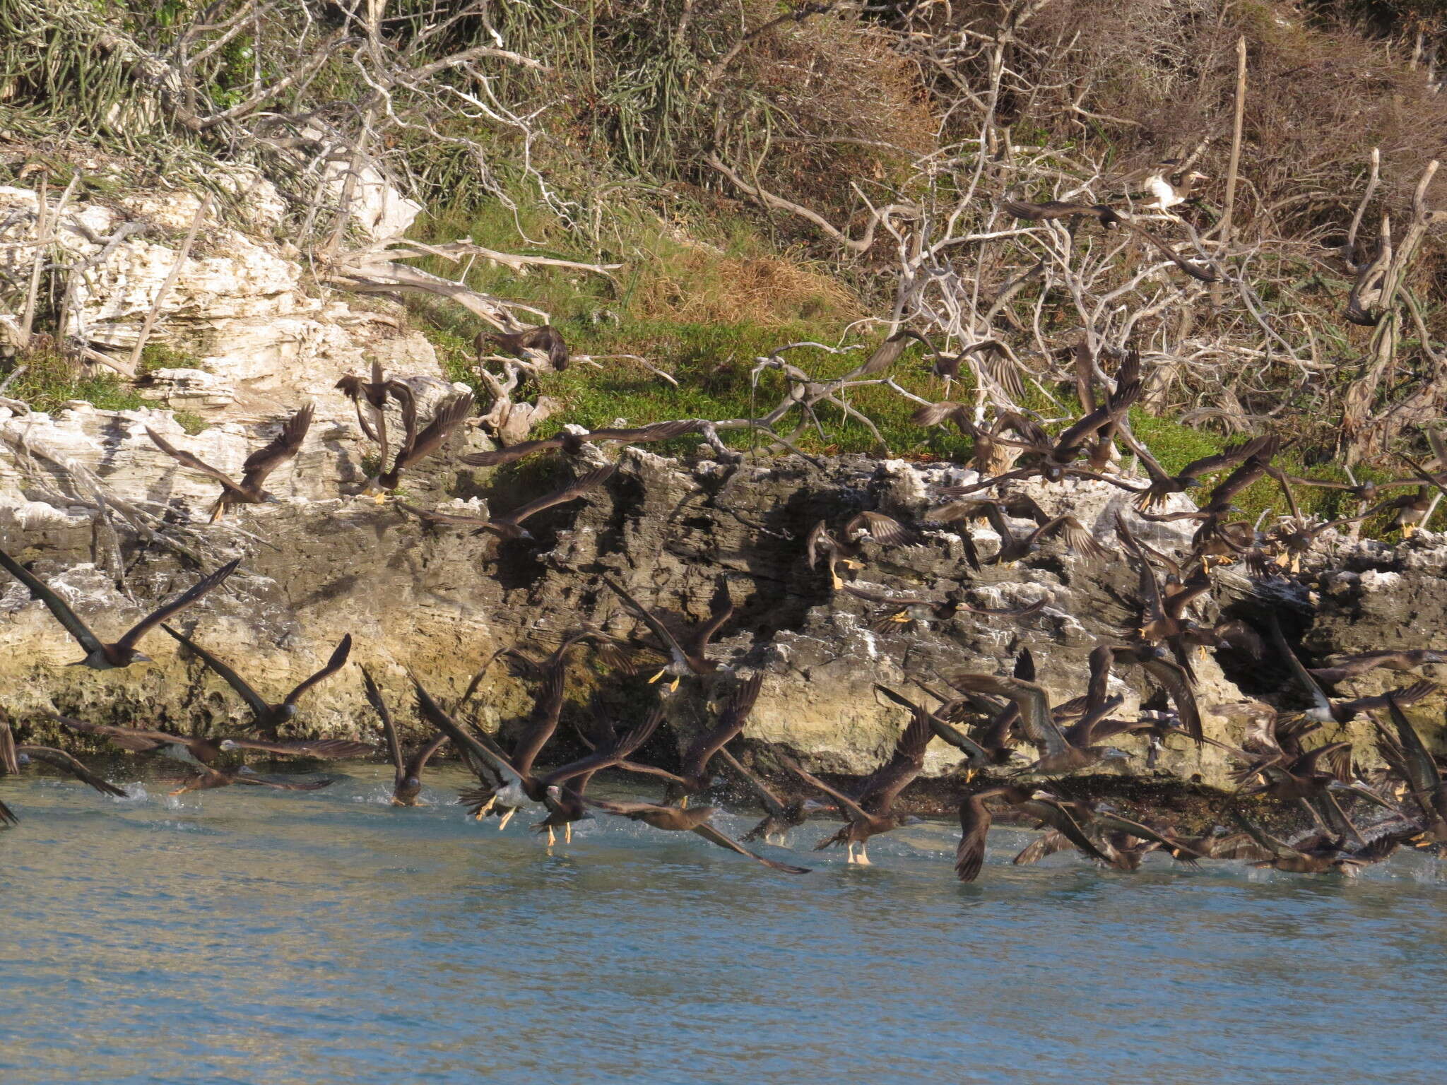
MULTIPOLYGON (((1039 51, 1027 58, 1032 75, 1064 87, 1020 100, 1014 120, 1126 163, 1185 156, 1205 142, 1198 162, 1213 181, 1204 195, 1218 201, 1242 35, 1249 74, 1237 227, 1299 237, 1344 226, 1372 148, 1382 152, 1382 204, 1405 207, 1422 168, 1447 148, 1447 95, 1433 91, 1425 67, 1412 67, 1405 43, 1308 20, 1294 4, 1049 4, 1022 36, 1039 51), (1097 116, 1072 110, 1075 101, 1097 116)), ((1447 178, 1438 178, 1430 200, 1444 198, 1447 178)))

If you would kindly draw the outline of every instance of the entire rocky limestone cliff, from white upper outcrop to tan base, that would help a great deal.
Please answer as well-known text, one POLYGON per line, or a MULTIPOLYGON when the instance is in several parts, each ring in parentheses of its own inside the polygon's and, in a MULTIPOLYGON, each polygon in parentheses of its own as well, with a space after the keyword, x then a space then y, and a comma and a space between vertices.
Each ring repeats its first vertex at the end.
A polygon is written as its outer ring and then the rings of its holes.
MULTIPOLYGON (((12 207, 35 198, 0 191, 12 207)), ((265 201, 258 203, 263 213, 265 201)), ((915 683, 933 681, 939 667, 1007 673, 1029 647, 1052 696, 1074 697, 1082 692, 1090 650, 1117 638, 1134 616, 1136 574, 1121 557, 1084 560, 1049 542, 1019 564, 972 571, 958 535, 920 521, 939 486, 974 477, 942 464, 861 457, 718 463, 625 450, 606 489, 530 522, 537 541, 424 528, 391 502, 355 496, 370 448, 334 389, 343 373, 378 359, 414 385, 424 411, 449 391, 431 347, 407 330, 401 310, 356 308, 304 288, 295 253, 255 229, 216 223, 197 255, 181 259, 175 231, 195 214, 191 205, 139 200, 55 210, 75 226, 62 243, 94 258, 71 308, 71 318, 90 321, 93 341, 104 326, 116 344, 133 343, 139 323, 156 308, 168 341, 198 359, 195 369, 150 375, 153 409, 98 411, 77 402, 49 415, 20 404, 0 407, 0 545, 35 563, 103 635, 126 628, 200 569, 239 556, 242 570, 226 589, 184 615, 190 634, 279 697, 350 632, 353 660, 372 667, 392 699, 405 703, 404 667, 456 696, 501 647, 548 648, 583 621, 627 632, 634 621, 602 587, 603 573, 631 584, 644 602, 695 619, 708 613, 722 583, 737 610, 716 641, 716 657, 767 676, 745 739, 765 761, 768 746, 781 745, 822 770, 862 773, 887 755, 904 719, 874 683, 919 694, 915 683), (140 226, 127 230, 127 223, 140 226), (204 522, 216 485, 164 456, 145 434, 152 427, 236 472, 307 401, 315 404, 317 421, 304 450, 268 483, 282 501, 243 506, 217 525, 204 522), (187 435, 171 414, 182 405, 208 427, 187 435), (928 625, 880 622, 888 608, 835 593, 826 571, 809 569, 805 558, 815 522, 836 527, 861 509, 890 512, 915 525, 917 537, 893 548, 865 541, 858 583, 933 597, 958 589, 978 606, 1045 600, 1045 608, 1024 619, 961 612, 928 625)), ((454 437, 425 470, 408 476, 407 499, 424 506, 486 501, 506 509, 550 483, 548 472, 572 470, 531 461, 488 477, 457 467, 464 446, 485 447, 485 438, 476 428, 454 437)), ((1101 483, 1036 483, 1032 492, 1048 512, 1072 512, 1106 544, 1116 515, 1133 515, 1126 495, 1101 483)), ((1134 522, 1143 538, 1165 548, 1187 537, 1175 525, 1134 522)), ((977 531, 975 541, 988 558, 990 532, 977 531)), ((1434 538, 1388 548, 1328 535, 1312 567, 1289 590, 1281 580, 1252 582, 1227 570, 1207 610, 1294 615, 1289 628, 1304 632, 1318 655, 1421 647, 1444 628, 1447 547, 1434 538), (1320 610, 1308 622, 1312 605, 1320 610)), ((153 664, 98 674, 69 668, 74 642, 19 583, 0 582, 0 705, 16 722, 39 726, 45 709, 172 728, 243 722, 230 690, 164 634, 145 647, 153 664)), ((1231 742, 1240 741, 1249 713, 1230 706, 1276 702, 1283 689, 1278 667, 1224 654, 1202 658, 1198 673, 1207 732, 1231 742)), ((572 681, 569 713, 635 710, 645 693, 642 677, 609 678, 587 668, 572 681)), ((725 676, 722 689, 728 683, 725 676)), ((1380 674, 1370 676, 1363 689, 1380 684, 1380 674)), ((1113 687, 1126 697, 1124 712, 1159 696, 1134 670, 1119 673, 1113 687)), ((670 697, 679 733, 708 716, 706 696, 686 683, 670 697)), ((498 667, 476 703, 488 726, 501 726, 525 712, 528 694, 498 667)), ((1440 715, 1434 702, 1417 710, 1433 733, 1440 715)), ((314 692, 297 726, 372 735, 356 671, 314 692)), ((948 773, 958 757, 936 745, 928 771, 948 773)), ((1121 745, 1140 748, 1132 739, 1121 745)), ((1220 751, 1174 746, 1158 773, 1224 783, 1220 751)), ((1369 757, 1365 746, 1362 752, 1369 757)), ((1120 771, 1145 770, 1137 760, 1120 771)))

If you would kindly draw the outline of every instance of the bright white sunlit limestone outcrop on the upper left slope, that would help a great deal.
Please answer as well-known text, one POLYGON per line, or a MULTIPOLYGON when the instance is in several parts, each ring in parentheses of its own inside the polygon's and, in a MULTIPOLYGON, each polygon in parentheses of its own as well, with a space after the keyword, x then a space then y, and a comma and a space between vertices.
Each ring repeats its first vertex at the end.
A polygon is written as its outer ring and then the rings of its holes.
MULTIPOLYGON (((275 190, 258 178, 232 181, 247 194, 249 229, 213 207, 168 288, 200 210, 195 195, 133 192, 114 207, 61 207, 59 195, 48 197, 58 263, 69 269, 65 336, 123 360, 155 308, 149 341, 195 365, 148 375, 142 392, 207 421, 279 420, 307 398, 317 401, 318 417, 344 417, 350 407, 334 385, 349 370, 365 372, 373 357, 404 373, 443 376, 427 340, 401 331, 385 304, 359 308, 310 286, 295 249, 258 230, 281 223, 275 190)), ((0 242, 33 239, 38 207, 38 192, 0 187, 0 221, 7 223, 0 242)), ((0 246, 0 272, 26 278, 30 252, 0 246)))

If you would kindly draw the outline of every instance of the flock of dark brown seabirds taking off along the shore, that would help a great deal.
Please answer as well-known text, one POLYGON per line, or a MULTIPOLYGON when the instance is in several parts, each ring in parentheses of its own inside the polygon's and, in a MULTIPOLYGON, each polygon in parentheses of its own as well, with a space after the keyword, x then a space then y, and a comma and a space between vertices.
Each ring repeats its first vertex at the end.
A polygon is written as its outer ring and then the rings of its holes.
MULTIPOLYGON (((1074 205, 1011 204, 1011 210, 1032 217, 1079 213, 1074 205)), ((566 360, 561 337, 548 331, 550 334, 511 346, 519 350, 561 352, 566 360)), ((894 352, 896 356, 897 353, 894 352)), ((826 576, 833 590, 880 608, 874 619, 878 628, 899 629, 909 624, 928 626, 959 616, 981 622, 1024 622, 1043 605, 978 608, 967 600, 964 586, 943 597, 932 597, 871 589, 865 583, 845 579, 845 574, 864 567, 868 556, 878 553, 878 548, 909 545, 920 538, 920 532, 932 528, 946 527, 956 532, 964 541, 967 561, 975 569, 991 563, 1020 561, 1052 538, 1085 556, 1114 554, 1136 570, 1139 613, 1114 642, 1100 644, 1090 652, 1082 696, 1052 703, 1046 689, 1036 680, 1036 665, 1029 650, 1020 652, 1010 674, 975 673, 968 667, 942 667, 930 674, 912 674, 910 678, 929 697, 929 703, 919 703, 919 694, 910 699, 894 689, 878 686, 881 696, 909 710, 909 723, 888 761, 867 778, 845 787, 831 784, 792 758, 778 755, 778 762, 796 781, 789 791, 809 796, 790 800, 776 791, 777 784, 765 781, 729 749, 729 744, 744 731, 763 676, 734 673, 709 654, 712 638, 734 613, 726 583, 719 584, 709 618, 686 625, 677 616, 644 605, 625 584, 605 576, 599 587, 616 597, 619 610, 637 621, 640 632, 616 637, 599 626, 585 625, 541 660, 522 647, 498 652, 483 664, 467 692, 447 706, 410 671, 417 712, 436 732, 412 751, 402 748, 391 707, 373 676, 362 668, 366 697, 376 712, 385 751, 395 770, 392 801, 404 807, 420 803, 428 760, 450 742, 478 783, 462 793, 460 801, 467 806, 470 816, 496 817, 499 827, 506 826, 518 812, 538 812, 544 816, 534 827, 546 832, 551 845, 560 832, 570 842, 574 822, 606 813, 642 822, 663 832, 690 832, 771 869, 803 874, 805 867, 765 858, 745 845, 752 841, 774 843, 789 829, 810 817, 831 817, 839 827, 819 841, 816 849, 842 846, 849 862, 867 864, 867 846, 874 836, 917 820, 904 810, 901 796, 920 775, 926 746, 939 738, 964 754, 959 778, 965 793, 959 800, 961 841, 955 862, 955 871, 964 881, 972 881, 980 874, 993 819, 991 804, 1010 807, 1016 814, 1048 827, 1016 862, 1033 862, 1053 851, 1074 848, 1100 864, 1130 871, 1139 867, 1142 856, 1159 849, 1185 864, 1244 858, 1282 871, 1350 872, 1363 864, 1383 859, 1404 843, 1433 849, 1447 845, 1443 764, 1402 713, 1402 706, 1421 700, 1437 687, 1430 681, 1415 681, 1382 696, 1356 699, 1337 697, 1328 692, 1336 683, 1379 668, 1409 671, 1447 663, 1447 654, 1433 650, 1376 651, 1349 655, 1325 668, 1308 670, 1273 621, 1262 631, 1242 621, 1205 622, 1197 612, 1198 602, 1211 592, 1215 571, 1221 566, 1240 564, 1255 577, 1292 577, 1299 571, 1301 557, 1311 541, 1328 527, 1395 511, 1393 525, 1409 535, 1428 515, 1433 496, 1447 492, 1443 489, 1447 485, 1447 448, 1441 440, 1435 434, 1430 435, 1434 460, 1406 460, 1412 469, 1408 477, 1382 483, 1356 483, 1354 479, 1350 483, 1336 483, 1289 476, 1273 464, 1279 441, 1270 435, 1246 440, 1172 473, 1150 457, 1129 428, 1127 412, 1139 401, 1143 386, 1139 356, 1119 356, 1116 375, 1108 378, 1098 365, 1101 359, 1091 356, 1084 346, 1077 354, 1082 373, 1078 391, 1084 408, 1078 421, 1052 435, 1039 421, 1024 414, 1000 412, 985 425, 964 404, 928 405, 915 415, 915 421, 925 427, 952 424, 971 437, 971 463, 980 480, 941 489, 935 495, 935 506, 917 524, 904 524, 878 511, 860 512, 838 524, 820 521, 809 532, 803 548, 809 567, 820 577, 826 576), (1134 457, 1145 477, 1121 470, 1119 446, 1124 446, 1124 454, 1134 457), (1215 482, 1195 511, 1162 511, 1168 498, 1201 489, 1211 476, 1215 482), (1130 492, 1136 511, 1145 521, 1194 521, 1197 527, 1191 547, 1168 554, 1137 538, 1124 516, 1116 518, 1114 540, 1103 541, 1072 515, 1048 515, 1019 486, 1026 480, 1058 483, 1072 477, 1104 482, 1130 492), (1237 512, 1233 499, 1260 479, 1270 479, 1281 488, 1291 511, 1291 515, 1266 529, 1233 515, 1237 512), (1299 512, 1294 498, 1294 488, 1299 486, 1347 489, 1362 508, 1357 515, 1321 524, 1299 512), (1409 492, 1389 496, 1391 490, 1409 492), (988 558, 981 556, 974 538, 972 525, 981 519, 991 525, 998 538, 998 547, 988 558), (1020 529, 1017 525, 1022 521, 1032 522, 1033 528, 1020 529), (867 547, 865 540, 871 540, 873 547, 867 547), (1310 707, 1304 712, 1269 710, 1265 716, 1257 712, 1242 748, 1208 738, 1202 731, 1195 697, 1192 655, 1226 645, 1262 658, 1272 654, 1279 657, 1286 673, 1310 699, 1310 707), (653 683, 660 690, 655 694, 657 705, 631 726, 593 720, 590 726, 580 728, 580 738, 587 748, 585 755, 563 765, 540 768, 538 762, 559 731, 566 703, 567 668, 583 651, 592 652, 602 667, 622 674, 642 671, 645 661, 653 657, 653 668, 657 671, 653 683), (466 715, 488 667, 499 657, 537 689, 532 712, 511 748, 505 748, 466 715), (1110 678, 1116 670, 1134 667, 1143 671, 1152 686, 1162 690, 1165 700, 1160 703, 1169 703, 1169 710, 1140 710, 1134 713, 1134 719, 1121 718, 1123 697, 1110 696, 1110 678), (715 722, 682 754, 676 770, 651 765, 637 757, 663 723, 664 677, 671 680, 666 684, 667 690, 676 690, 683 681, 696 683, 721 706, 715 722), (1307 739, 1318 735, 1324 726, 1346 723, 1360 715, 1372 718, 1376 749, 1386 765, 1370 774, 1370 778, 1356 767, 1350 742, 1318 741, 1317 745, 1307 745, 1307 739), (1172 825, 1133 820, 1104 801, 1068 799, 1058 793, 1061 788, 1052 790, 1052 780, 1127 760, 1130 755, 1126 751, 1110 744, 1111 738, 1120 735, 1140 735, 1149 741, 1147 767, 1155 767, 1158 754, 1168 741, 1220 746, 1237 764, 1237 796, 1262 796, 1299 807, 1310 814, 1315 829, 1288 843, 1250 820, 1236 799, 1227 796, 1221 820, 1230 826, 1218 825, 1211 835, 1189 838, 1172 825), (660 801, 611 801, 589 796, 589 783, 603 770, 657 781, 663 788, 660 801), (742 842, 710 823, 715 807, 690 806, 690 800, 713 788, 721 774, 738 781, 757 797, 764 813, 763 820, 742 842), (978 783, 977 777, 981 777, 978 783), (1357 810, 1382 813, 1372 813, 1373 823, 1363 829, 1359 826, 1363 813, 1357 810)), ((948 362, 936 354, 936 372, 948 372, 948 362)), ((955 362, 958 365, 958 359, 955 362)), ((365 492, 378 502, 396 490, 404 470, 437 454, 447 435, 464 422, 473 407, 470 393, 449 395, 423 427, 411 388, 388 379, 379 366, 373 366, 370 380, 347 376, 339 383, 339 389, 356 404, 360 430, 381 448, 378 473, 365 486, 365 492), (389 404, 395 404, 401 412, 401 440, 388 434, 389 404)), ((217 519, 233 505, 271 499, 263 483, 297 454, 311 417, 310 407, 292 415, 273 441, 246 460, 240 482, 191 453, 172 447, 155 433, 150 433, 150 438, 184 467, 220 483, 221 493, 211 508, 211 518, 217 519)), ((462 460, 470 466, 495 466, 556 451, 577 461, 585 446, 674 440, 697 433, 702 425, 700 421, 682 420, 631 430, 563 434, 463 456, 462 460)), ((504 540, 528 540, 531 535, 522 527, 524 521, 602 486, 614 467, 580 470, 583 473, 574 482, 506 515, 460 516, 401 501, 395 508, 438 529, 462 527, 488 531, 504 540)), ((232 561, 201 577, 192 587, 137 622, 119 641, 106 642, 75 615, 61 595, 0 551, 0 566, 25 584, 32 597, 43 602, 80 644, 85 657, 78 665, 107 670, 146 663, 148 657, 139 651, 139 644, 159 626, 223 678, 253 716, 245 733, 220 739, 97 725, 58 713, 51 713, 52 718, 74 732, 104 739, 123 751, 166 754, 190 764, 192 774, 178 791, 230 784, 313 790, 331 783, 326 778, 301 783, 236 764, 239 755, 247 751, 268 757, 330 760, 375 752, 366 742, 298 739, 284 733, 301 710, 307 693, 343 671, 352 650, 350 637, 341 639, 326 667, 287 693, 279 703, 272 703, 194 635, 184 635, 168 624, 207 593, 221 587, 237 564, 232 561)), ((120 788, 93 774, 65 751, 16 745, 9 725, 0 722, 0 774, 17 773, 30 760, 55 765, 107 794, 122 794, 120 788)), ((14 813, 0 804, 0 825, 14 820, 14 813)))

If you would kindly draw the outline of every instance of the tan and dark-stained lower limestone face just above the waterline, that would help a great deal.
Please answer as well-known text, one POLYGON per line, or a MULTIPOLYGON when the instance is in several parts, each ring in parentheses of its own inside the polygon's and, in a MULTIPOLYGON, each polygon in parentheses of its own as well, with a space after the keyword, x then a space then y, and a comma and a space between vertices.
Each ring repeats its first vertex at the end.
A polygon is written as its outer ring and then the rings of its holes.
MULTIPOLYGON (((221 459, 224 438, 211 440, 208 454, 221 459)), ((137 447, 136 456, 142 453, 137 447)), ((140 470, 139 459, 133 469, 140 470)), ((391 505, 298 492, 281 505, 237 509, 223 525, 204 529, 214 532, 217 560, 239 553, 243 567, 181 625, 272 696, 301 681, 350 632, 355 658, 407 703, 404 665, 427 676, 434 693, 457 696, 499 647, 531 641, 550 648, 580 621, 631 631, 635 622, 602 587, 602 571, 644 602, 695 621, 708 613, 722 582, 737 613, 713 654, 729 670, 765 673, 745 738, 786 746, 819 768, 862 773, 888 755, 906 719, 875 694, 874 683, 923 697, 912 681, 938 686, 935 668, 1003 673, 1029 645, 1052 694, 1078 696, 1085 657, 1095 637, 1108 635, 1110 616, 1124 615, 1116 595, 1134 580, 1123 563, 1077 561, 1053 544, 1019 567, 971 573, 956 535, 926 531, 917 545, 897 550, 865 542, 860 583, 936 597, 964 586, 980 603, 1046 597, 1049 605, 1020 622, 962 615, 928 629, 878 625, 881 608, 835 595, 828 574, 806 566, 803 540, 820 518, 838 525, 873 508, 874 495, 897 485, 900 470, 864 459, 839 460, 826 472, 792 459, 767 467, 687 469, 629 450, 606 490, 532 521, 535 544, 421 528, 391 505)), ((939 477, 938 470, 920 472, 916 482, 928 490, 939 477)), ((515 483, 493 492, 491 503, 512 508, 535 489, 515 483)), ((444 467, 417 499, 428 503, 460 492, 472 492, 469 475, 444 467)), ((133 603, 110 570, 96 567, 93 527, 84 511, 59 519, 27 518, 13 508, 0 514, 0 544, 22 560, 38 560, 38 571, 64 586, 104 634, 197 576, 174 554, 123 545, 133 603)), ((153 635, 146 650, 156 661, 127 671, 97 677, 64 667, 74 644, 48 612, 16 584, 0 596, 0 678, 13 690, 4 699, 13 716, 54 705, 179 726, 245 722, 226 687, 182 658, 164 634, 153 635)), ((1211 690, 1202 699, 1242 699, 1213 663, 1201 665, 1201 676, 1211 690)), ((1140 674, 1120 678, 1129 710, 1145 686, 1140 674)), ((725 671, 713 693, 722 696, 731 681, 725 671)), ((670 716, 683 735, 708 719, 708 696, 700 683, 689 681, 670 699, 670 716)), ((525 703, 522 687, 501 668, 483 684, 482 718, 489 725, 518 715, 525 703)), ((355 673, 318 692, 298 725, 308 733, 369 733, 355 673)), ((1221 733, 1227 725, 1213 719, 1210 726, 1221 733)), ((929 771, 948 771, 956 761, 941 746, 930 754, 929 771)), ((1176 751, 1165 764, 1207 780, 1220 777, 1210 752, 1176 751)))

